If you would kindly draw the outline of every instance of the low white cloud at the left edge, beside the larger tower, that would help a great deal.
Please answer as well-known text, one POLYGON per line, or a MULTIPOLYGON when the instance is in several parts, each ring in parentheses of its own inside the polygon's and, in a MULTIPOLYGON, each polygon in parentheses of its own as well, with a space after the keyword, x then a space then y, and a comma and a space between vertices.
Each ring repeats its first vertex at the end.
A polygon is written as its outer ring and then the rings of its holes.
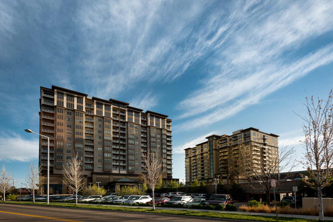
POLYGON ((26 140, 17 134, 0 136, 0 161, 27 162, 38 158, 39 140, 26 140))

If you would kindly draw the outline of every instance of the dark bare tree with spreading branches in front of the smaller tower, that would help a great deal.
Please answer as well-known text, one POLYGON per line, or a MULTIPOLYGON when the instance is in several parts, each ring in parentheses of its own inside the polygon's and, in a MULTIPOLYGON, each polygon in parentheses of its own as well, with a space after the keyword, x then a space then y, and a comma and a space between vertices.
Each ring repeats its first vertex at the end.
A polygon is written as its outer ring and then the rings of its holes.
POLYGON ((265 193, 267 204, 270 203, 271 179, 275 179, 280 171, 291 171, 297 165, 294 147, 285 146, 280 151, 273 151, 264 146, 259 147, 257 143, 249 146, 240 143, 233 150, 235 154, 231 171, 246 180, 252 189, 265 193))

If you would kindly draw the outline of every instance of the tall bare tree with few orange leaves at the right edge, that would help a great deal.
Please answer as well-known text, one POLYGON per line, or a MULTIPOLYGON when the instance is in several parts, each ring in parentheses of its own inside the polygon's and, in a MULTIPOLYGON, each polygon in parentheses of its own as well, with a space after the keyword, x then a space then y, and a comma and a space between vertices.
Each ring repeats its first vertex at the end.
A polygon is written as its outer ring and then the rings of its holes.
POLYGON ((332 184, 333 172, 333 91, 329 93, 327 101, 314 100, 310 102, 306 97, 307 115, 304 120, 303 131, 305 138, 304 157, 301 163, 308 168, 310 177, 314 180, 303 178, 303 182, 315 188, 318 193, 319 221, 324 220, 322 190, 332 184))

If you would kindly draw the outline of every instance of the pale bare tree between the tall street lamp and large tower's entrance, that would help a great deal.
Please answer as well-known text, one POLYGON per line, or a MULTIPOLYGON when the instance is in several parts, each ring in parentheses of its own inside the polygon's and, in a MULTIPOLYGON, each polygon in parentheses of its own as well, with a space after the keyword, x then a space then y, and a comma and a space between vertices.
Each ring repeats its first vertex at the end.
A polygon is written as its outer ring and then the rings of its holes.
POLYGON ((81 160, 78 158, 78 154, 74 154, 73 158, 69 160, 68 166, 64 166, 63 182, 75 192, 75 204, 78 204, 78 192, 84 186, 83 177, 81 160))

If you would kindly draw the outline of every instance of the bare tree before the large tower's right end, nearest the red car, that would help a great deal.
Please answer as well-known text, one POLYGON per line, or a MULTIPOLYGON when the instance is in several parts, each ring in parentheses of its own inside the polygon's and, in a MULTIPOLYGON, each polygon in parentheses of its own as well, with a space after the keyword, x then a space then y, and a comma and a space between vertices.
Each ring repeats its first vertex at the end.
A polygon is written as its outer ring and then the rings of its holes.
POLYGON ((154 151, 149 150, 147 154, 142 151, 141 153, 141 156, 145 161, 145 172, 140 174, 139 178, 153 191, 153 209, 155 210, 155 187, 159 181, 166 176, 166 171, 162 168, 163 157, 161 157, 156 149, 154 151))

